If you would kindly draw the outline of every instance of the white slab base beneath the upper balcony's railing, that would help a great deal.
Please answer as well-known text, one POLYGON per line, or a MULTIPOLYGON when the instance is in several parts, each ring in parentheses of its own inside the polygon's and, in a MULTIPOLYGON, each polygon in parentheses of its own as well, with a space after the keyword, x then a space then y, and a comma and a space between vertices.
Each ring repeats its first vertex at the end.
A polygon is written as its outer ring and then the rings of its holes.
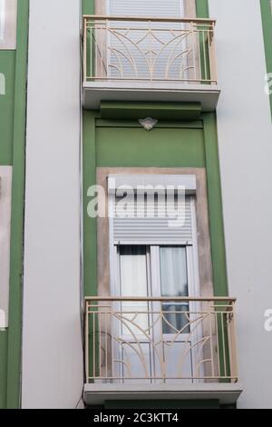
POLYGON ((103 101, 199 103, 202 112, 211 112, 219 94, 219 86, 213 84, 95 81, 83 83, 83 107, 99 110, 103 101))

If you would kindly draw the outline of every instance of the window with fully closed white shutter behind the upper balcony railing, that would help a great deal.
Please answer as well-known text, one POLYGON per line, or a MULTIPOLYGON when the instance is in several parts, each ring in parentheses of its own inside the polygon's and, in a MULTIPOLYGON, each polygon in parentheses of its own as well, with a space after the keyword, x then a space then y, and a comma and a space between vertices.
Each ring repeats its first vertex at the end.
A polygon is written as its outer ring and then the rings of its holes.
POLYGON ((112 81, 199 82, 199 33, 180 21, 195 18, 194 0, 105 0, 96 2, 95 12, 115 19, 90 21, 95 66, 88 74, 112 81))

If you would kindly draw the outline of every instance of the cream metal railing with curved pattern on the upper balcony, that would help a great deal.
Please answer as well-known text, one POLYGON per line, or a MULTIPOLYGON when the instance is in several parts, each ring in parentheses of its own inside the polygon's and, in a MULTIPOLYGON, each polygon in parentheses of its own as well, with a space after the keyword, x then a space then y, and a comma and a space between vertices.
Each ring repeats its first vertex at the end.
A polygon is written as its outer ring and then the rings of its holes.
POLYGON ((217 84, 215 20, 83 16, 83 81, 217 84))

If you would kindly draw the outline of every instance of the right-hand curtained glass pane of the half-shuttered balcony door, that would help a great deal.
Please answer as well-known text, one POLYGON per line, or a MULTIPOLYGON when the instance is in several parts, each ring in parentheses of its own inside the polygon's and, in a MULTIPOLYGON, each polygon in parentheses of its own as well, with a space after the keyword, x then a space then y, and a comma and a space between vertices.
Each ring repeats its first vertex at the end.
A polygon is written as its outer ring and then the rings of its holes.
MULTIPOLYGON (((161 296, 189 296, 185 247, 160 247, 161 296)), ((189 333, 189 303, 162 303, 163 333, 189 333)))

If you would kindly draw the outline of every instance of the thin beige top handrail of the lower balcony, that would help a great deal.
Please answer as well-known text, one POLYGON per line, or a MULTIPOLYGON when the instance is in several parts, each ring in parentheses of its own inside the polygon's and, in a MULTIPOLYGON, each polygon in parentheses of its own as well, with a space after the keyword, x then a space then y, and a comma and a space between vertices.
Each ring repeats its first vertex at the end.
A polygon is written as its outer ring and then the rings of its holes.
POLYGON ((88 301, 105 301, 105 302, 180 302, 180 303, 236 303, 237 298, 231 297, 220 297, 220 296, 211 296, 211 297, 183 297, 183 296, 164 296, 164 297, 153 297, 153 296, 86 296, 85 302, 88 301))

